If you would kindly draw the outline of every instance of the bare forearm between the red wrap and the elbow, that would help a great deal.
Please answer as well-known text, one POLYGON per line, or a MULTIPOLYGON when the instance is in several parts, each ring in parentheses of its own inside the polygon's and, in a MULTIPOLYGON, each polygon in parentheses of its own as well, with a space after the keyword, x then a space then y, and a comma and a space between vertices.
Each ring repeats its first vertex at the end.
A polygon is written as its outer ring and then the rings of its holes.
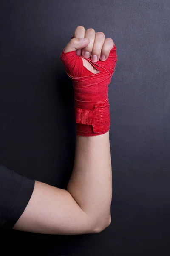
POLYGON ((77 136, 68 192, 96 223, 111 222, 112 171, 109 132, 77 136))

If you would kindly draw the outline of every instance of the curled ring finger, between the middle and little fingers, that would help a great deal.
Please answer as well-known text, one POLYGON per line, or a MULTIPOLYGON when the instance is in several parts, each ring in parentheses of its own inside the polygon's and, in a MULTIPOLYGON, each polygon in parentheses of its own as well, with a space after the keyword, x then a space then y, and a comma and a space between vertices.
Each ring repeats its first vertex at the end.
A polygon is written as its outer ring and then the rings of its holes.
POLYGON ((97 32, 94 40, 93 50, 91 52, 91 60, 96 62, 100 58, 101 50, 105 42, 105 34, 97 32))

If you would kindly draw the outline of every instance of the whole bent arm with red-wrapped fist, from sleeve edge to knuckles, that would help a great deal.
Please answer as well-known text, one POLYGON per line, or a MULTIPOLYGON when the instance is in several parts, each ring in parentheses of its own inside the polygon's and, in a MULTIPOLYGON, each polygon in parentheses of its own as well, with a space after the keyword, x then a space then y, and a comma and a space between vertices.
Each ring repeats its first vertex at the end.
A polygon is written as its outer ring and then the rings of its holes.
POLYGON ((79 26, 64 48, 61 60, 75 92, 74 169, 67 190, 35 181, 31 198, 14 229, 75 235, 99 233, 111 223, 108 84, 116 64, 113 45, 113 40, 102 32, 79 26), (83 43, 78 38, 88 41, 83 43), (91 58, 85 56, 85 51, 90 52, 91 58), (92 61, 92 55, 98 56, 97 61, 92 61), (105 61, 101 61, 101 55, 106 56, 105 61))

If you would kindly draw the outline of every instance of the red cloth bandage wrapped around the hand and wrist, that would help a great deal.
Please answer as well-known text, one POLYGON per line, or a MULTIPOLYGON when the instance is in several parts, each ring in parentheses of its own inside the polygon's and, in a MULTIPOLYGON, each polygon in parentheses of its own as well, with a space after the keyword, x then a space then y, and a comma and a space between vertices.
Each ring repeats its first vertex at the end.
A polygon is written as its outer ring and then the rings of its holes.
POLYGON ((100 71, 97 74, 83 66, 82 58, 84 57, 77 55, 76 51, 65 53, 64 49, 60 55, 74 86, 77 135, 104 134, 109 131, 111 125, 108 84, 116 67, 116 46, 114 44, 106 61, 93 62, 91 58, 84 58, 100 71))

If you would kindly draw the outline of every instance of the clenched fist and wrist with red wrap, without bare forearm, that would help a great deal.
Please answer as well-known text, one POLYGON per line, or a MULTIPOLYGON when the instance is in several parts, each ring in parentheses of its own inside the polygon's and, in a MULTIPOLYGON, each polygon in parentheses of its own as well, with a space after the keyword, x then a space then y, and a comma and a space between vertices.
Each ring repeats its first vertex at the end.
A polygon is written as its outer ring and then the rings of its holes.
POLYGON ((60 59, 73 81, 77 135, 106 133, 111 121, 108 85, 117 61, 113 40, 102 32, 78 26, 60 59))

